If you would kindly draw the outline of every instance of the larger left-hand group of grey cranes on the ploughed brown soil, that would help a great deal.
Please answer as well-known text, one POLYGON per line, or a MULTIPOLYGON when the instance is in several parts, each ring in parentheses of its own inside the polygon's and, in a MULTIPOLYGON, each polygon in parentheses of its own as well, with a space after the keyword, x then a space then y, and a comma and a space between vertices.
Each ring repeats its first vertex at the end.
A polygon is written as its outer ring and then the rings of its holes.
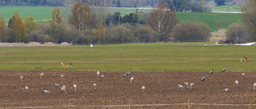
MULTIPOLYGON (((124 77, 128 77, 129 75, 131 75, 131 73, 132 72, 126 72, 126 74, 124 74, 124 77)), ((98 71, 97 73, 97 78, 99 77, 99 75, 100 75, 100 72, 98 71)), ((44 76, 44 73, 42 72, 41 74, 40 74, 40 79, 42 80, 42 77, 44 76)), ((63 80, 63 75, 61 75, 61 80, 63 80)), ((104 75, 101 75, 100 76, 101 77, 101 80, 103 80, 103 78, 104 78, 104 75)), ((23 80, 23 76, 21 75, 20 76, 20 79, 21 79, 21 81, 23 80)), ((131 78, 130 78, 130 84, 132 84, 133 83, 133 80, 134 80, 134 77, 132 76, 131 78)), ((62 92, 64 92, 65 94, 66 94, 66 86, 65 85, 62 85, 62 87, 59 85, 59 84, 53 84, 56 88, 58 88, 60 91, 62 91, 62 92)), ((94 83, 93 84, 94 85, 94 91, 96 91, 96 86, 97 86, 97 84, 96 83, 94 83)), ((74 91, 77 91, 77 85, 76 84, 73 84, 73 87, 74 87, 74 91)), ((29 91, 29 87, 28 86, 25 86, 25 89, 26 89, 26 93, 28 93, 29 91)), ((142 92, 144 92, 144 90, 145 90, 145 86, 142 86, 142 92)), ((48 91, 48 90, 44 90, 44 91, 42 91, 42 93, 45 93, 45 94, 50 94, 51 93, 51 91, 48 91)))

